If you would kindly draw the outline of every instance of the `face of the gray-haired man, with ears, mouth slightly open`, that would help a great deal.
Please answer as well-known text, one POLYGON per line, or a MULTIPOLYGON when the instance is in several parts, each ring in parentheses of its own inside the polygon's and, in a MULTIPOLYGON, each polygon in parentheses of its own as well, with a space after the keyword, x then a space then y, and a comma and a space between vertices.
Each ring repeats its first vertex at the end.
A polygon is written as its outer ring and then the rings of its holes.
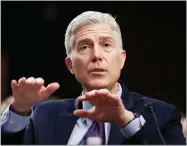
POLYGON ((71 55, 66 65, 88 91, 114 86, 126 58, 116 32, 103 23, 79 28, 71 55))

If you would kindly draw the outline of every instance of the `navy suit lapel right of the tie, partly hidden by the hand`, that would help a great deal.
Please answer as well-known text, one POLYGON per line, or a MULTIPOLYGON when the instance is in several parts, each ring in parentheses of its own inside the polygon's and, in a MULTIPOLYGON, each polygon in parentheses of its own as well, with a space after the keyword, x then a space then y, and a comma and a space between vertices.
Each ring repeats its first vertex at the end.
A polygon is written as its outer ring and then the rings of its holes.
MULTIPOLYGON (((120 85, 122 86, 121 99, 123 101, 123 104, 127 110, 131 110, 134 107, 134 102, 132 97, 130 96, 130 92, 125 87, 123 82, 120 82, 120 85)), ((126 140, 120 130, 121 129, 116 124, 111 123, 108 145, 120 145, 123 143, 123 141, 126 140)))

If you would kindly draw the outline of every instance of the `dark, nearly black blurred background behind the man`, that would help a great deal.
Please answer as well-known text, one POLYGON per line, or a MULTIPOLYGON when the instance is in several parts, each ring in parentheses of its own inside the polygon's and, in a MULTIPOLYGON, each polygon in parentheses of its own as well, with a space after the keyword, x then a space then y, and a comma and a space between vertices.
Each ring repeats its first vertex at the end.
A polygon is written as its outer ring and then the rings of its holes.
POLYGON ((59 82, 53 96, 60 99, 80 94, 64 62, 64 34, 87 10, 116 17, 127 51, 120 79, 129 90, 186 112, 185 1, 1 1, 1 101, 12 94, 11 80, 23 76, 59 82))

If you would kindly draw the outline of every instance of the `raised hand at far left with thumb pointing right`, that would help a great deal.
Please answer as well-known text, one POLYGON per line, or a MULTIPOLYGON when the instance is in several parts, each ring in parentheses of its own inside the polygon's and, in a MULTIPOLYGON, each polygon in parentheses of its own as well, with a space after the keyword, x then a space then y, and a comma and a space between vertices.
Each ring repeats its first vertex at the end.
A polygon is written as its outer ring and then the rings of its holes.
POLYGON ((46 100, 60 85, 51 83, 45 87, 42 78, 30 77, 26 79, 22 77, 18 82, 12 80, 11 87, 14 97, 13 108, 18 112, 27 112, 32 105, 46 100))

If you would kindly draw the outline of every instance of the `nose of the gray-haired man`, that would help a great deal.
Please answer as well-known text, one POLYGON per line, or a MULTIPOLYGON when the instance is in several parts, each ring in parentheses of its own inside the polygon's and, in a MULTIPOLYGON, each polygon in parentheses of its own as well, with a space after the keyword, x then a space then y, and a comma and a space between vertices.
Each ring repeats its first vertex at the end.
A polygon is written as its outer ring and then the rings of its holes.
POLYGON ((96 45, 94 46, 94 49, 93 49, 93 53, 92 53, 92 61, 93 62, 96 62, 96 61, 101 61, 102 60, 102 49, 101 49, 101 46, 99 45, 96 45))

